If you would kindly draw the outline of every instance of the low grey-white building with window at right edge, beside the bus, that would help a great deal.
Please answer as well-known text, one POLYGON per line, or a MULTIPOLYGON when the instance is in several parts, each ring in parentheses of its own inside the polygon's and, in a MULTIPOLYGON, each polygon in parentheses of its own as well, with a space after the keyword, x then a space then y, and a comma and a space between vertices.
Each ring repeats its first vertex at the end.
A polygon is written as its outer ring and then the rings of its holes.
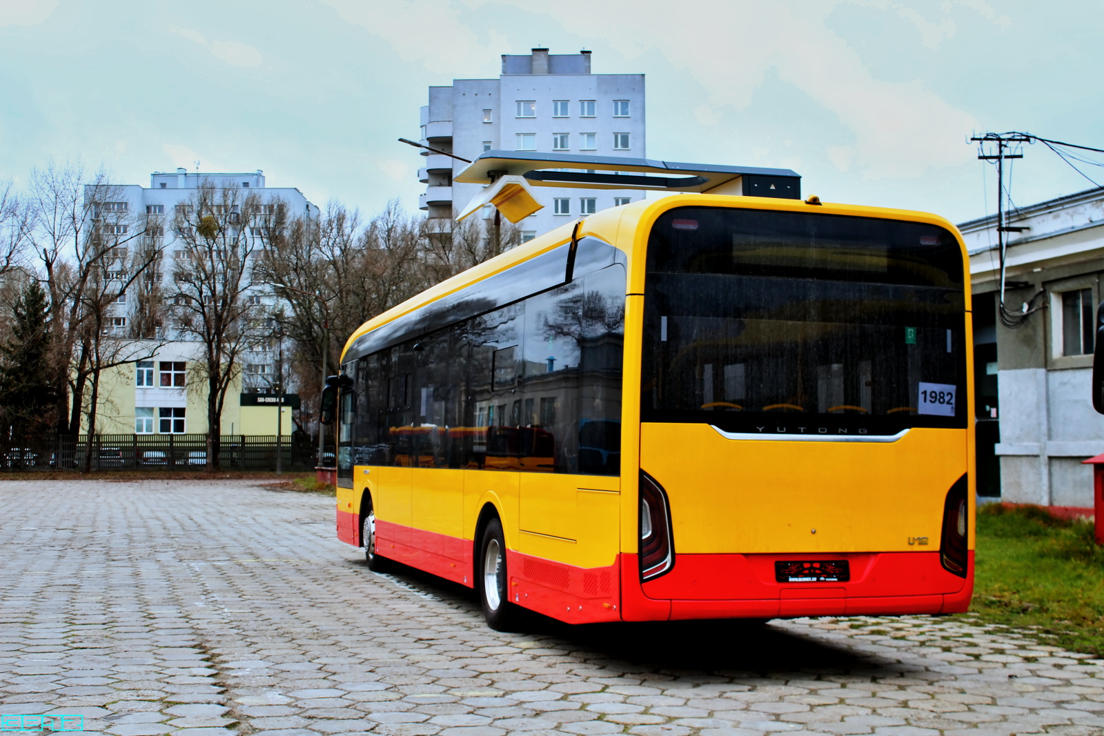
POLYGON ((978 494, 1085 509, 1093 473, 1082 460, 1104 452, 1090 381, 1104 296, 1104 191, 1006 213, 1006 320, 997 225, 989 216, 958 226, 974 295, 978 494))

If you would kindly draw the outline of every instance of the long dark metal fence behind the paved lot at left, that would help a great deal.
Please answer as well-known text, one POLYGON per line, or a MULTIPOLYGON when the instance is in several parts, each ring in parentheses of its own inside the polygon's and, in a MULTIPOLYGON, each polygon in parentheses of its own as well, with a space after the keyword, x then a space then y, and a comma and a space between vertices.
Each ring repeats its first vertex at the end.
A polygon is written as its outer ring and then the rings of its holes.
MULTIPOLYGON (((93 470, 204 470, 206 435, 95 435, 93 470)), ((223 435, 219 465, 224 470, 314 470, 317 438, 301 435, 223 435), (279 441, 277 441, 277 439, 279 441)), ((0 472, 84 470, 87 436, 50 435, 0 439, 0 472)), ((323 458, 332 463, 332 448, 323 458)))

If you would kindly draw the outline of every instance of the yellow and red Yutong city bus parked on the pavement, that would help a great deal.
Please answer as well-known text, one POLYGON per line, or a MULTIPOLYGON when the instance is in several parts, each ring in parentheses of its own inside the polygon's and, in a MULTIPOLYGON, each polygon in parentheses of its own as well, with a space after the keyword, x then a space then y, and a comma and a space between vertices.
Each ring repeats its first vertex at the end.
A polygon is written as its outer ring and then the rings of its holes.
POLYGON ((350 337, 338 537, 567 622, 969 602, 962 238, 710 194, 606 210, 350 337))

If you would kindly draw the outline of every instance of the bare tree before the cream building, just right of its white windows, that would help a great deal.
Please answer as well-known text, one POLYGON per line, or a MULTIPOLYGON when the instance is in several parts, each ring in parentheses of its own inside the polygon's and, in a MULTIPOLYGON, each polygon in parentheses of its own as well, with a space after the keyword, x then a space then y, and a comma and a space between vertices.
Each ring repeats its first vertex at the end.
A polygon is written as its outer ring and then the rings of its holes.
POLYGON ((254 250, 286 237, 287 207, 243 195, 236 186, 201 183, 173 216, 178 244, 171 308, 177 329, 197 340, 195 363, 206 383, 208 468, 219 469, 222 410, 241 375, 241 360, 267 321, 251 303, 254 250))

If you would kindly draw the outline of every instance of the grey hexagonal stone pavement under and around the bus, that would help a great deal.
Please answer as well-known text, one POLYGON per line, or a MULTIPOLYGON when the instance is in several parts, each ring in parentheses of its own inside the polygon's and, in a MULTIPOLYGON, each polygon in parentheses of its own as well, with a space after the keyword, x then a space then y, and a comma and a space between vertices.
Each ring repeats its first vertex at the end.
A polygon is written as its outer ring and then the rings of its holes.
POLYGON ((1104 734, 1104 661, 931 617, 484 626, 332 499, 0 481, 0 713, 115 736, 1104 734))

